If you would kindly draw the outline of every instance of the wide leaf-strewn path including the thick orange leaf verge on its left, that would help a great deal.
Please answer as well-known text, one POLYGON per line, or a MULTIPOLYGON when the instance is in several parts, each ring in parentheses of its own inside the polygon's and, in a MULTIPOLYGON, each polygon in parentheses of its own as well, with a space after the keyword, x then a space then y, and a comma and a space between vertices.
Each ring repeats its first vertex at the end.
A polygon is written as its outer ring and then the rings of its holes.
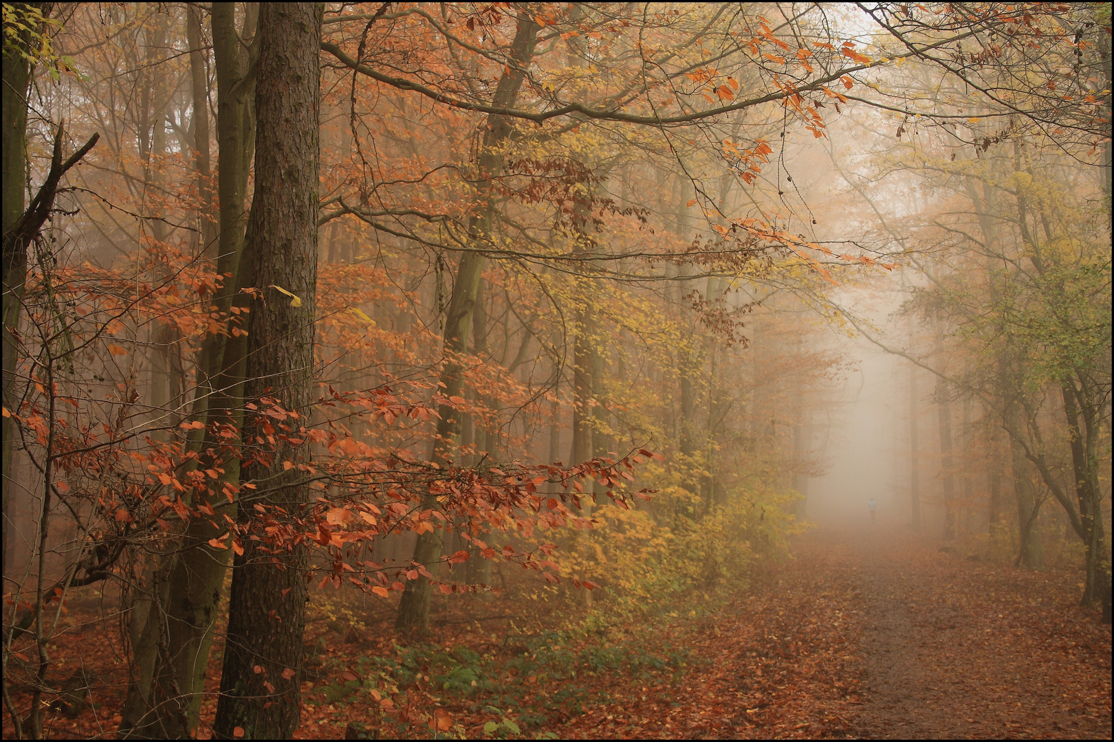
POLYGON ((1076 604, 1074 575, 941 546, 881 524, 807 533, 792 560, 678 637, 696 659, 680 687, 615 687, 555 731, 1108 739, 1111 630, 1076 604))

